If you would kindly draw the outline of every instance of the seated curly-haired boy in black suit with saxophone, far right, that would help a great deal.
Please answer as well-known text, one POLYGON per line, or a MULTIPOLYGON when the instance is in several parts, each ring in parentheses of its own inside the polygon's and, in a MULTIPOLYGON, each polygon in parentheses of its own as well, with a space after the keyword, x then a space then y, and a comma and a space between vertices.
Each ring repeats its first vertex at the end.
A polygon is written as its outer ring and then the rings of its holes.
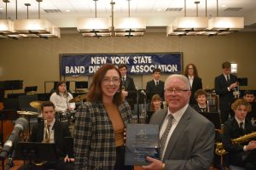
POLYGON ((246 170, 256 169, 256 141, 248 135, 255 131, 252 123, 247 120, 247 112, 251 105, 245 99, 236 99, 231 105, 235 116, 224 123, 223 144, 228 151, 230 166, 245 167, 246 170), (247 135, 247 138, 241 136, 247 135), (240 139, 241 141, 235 140, 240 139), (248 141, 248 142, 247 142, 248 141))

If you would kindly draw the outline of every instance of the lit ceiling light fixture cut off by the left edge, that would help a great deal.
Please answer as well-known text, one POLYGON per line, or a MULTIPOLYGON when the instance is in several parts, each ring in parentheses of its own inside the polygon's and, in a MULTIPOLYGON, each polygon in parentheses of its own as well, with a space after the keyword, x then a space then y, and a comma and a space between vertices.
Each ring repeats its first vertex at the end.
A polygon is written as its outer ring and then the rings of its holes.
POLYGON ((11 33, 14 31, 14 23, 7 18, 7 3, 9 0, 3 0, 5 3, 5 20, 0 20, 0 38, 5 38, 4 34, 11 33))

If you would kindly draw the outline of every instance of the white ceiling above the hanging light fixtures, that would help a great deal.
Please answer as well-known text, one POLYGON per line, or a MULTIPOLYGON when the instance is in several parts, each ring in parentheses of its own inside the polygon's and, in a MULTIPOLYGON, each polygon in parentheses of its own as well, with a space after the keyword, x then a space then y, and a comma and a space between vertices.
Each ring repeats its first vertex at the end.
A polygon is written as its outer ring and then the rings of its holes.
MULTIPOLYGON (((36 0, 9 0, 7 3, 7 16, 10 20, 17 18, 26 19, 25 3, 31 3, 28 8, 29 19, 38 18, 38 2, 36 0)), ((186 0, 187 16, 196 16, 195 1, 198 5, 198 15, 217 15, 217 0, 186 0)), ((98 0, 97 17, 111 16, 111 0, 98 0)), ((113 16, 128 17, 128 1, 113 0, 113 16)), ((0 19, 5 19, 5 3, 0 2, 0 19)), ((184 0, 131 0, 130 16, 142 17, 146 20, 147 26, 167 26, 177 16, 184 16, 184 0), (181 11, 166 11, 166 8, 182 8, 181 11)), ((77 19, 82 17, 95 17, 95 2, 93 0, 43 0, 40 3, 41 19, 47 19, 55 26, 76 27, 77 19), (46 13, 45 9, 59 9, 61 13, 46 13), (70 12, 67 12, 67 9, 70 12)), ((243 16, 246 26, 256 24, 256 0, 218 0, 218 16, 243 16), (239 11, 225 11, 226 8, 241 8, 239 11)))

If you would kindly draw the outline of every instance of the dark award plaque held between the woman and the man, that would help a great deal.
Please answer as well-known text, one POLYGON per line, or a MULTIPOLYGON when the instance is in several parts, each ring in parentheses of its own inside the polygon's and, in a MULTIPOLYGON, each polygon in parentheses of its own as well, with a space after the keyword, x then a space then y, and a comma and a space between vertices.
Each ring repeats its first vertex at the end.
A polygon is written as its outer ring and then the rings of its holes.
POLYGON ((148 165, 146 157, 159 158, 159 126, 153 124, 127 124, 125 165, 148 165))

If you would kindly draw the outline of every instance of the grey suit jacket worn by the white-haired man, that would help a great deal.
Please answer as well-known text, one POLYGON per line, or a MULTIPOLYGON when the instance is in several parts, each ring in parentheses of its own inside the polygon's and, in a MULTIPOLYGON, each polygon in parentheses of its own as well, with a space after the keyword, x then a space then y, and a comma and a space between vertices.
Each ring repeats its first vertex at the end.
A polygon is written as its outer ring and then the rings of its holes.
MULTIPOLYGON (((167 108, 155 112, 151 124, 161 126, 167 108)), ((165 169, 201 170, 211 167, 214 149, 214 126, 190 106, 174 129, 166 147, 165 169)))

